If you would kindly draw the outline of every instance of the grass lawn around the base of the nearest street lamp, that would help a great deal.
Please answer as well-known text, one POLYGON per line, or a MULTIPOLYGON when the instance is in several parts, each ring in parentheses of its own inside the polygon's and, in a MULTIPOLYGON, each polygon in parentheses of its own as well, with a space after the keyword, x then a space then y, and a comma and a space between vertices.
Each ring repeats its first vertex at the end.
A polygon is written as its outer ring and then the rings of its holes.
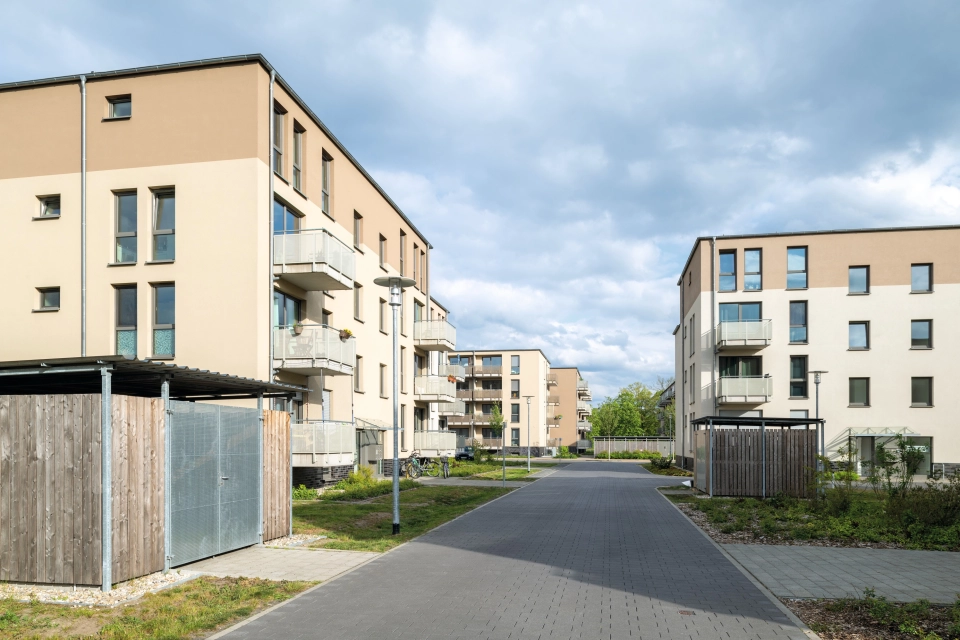
POLYGON ((386 551, 493 500, 510 489, 421 486, 400 494, 400 535, 393 531, 393 496, 361 501, 310 501, 293 506, 293 532, 328 537, 312 546, 386 551))

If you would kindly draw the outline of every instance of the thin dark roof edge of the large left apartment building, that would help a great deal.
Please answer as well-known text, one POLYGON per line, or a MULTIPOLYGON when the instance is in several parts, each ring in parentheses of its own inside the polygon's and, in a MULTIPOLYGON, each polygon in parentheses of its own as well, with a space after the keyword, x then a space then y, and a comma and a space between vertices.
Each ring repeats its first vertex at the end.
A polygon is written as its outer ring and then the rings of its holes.
MULTIPOLYGON (((171 62, 168 64, 154 64, 154 65, 149 65, 145 67, 130 67, 129 69, 117 69, 114 71, 91 71, 90 73, 78 73, 70 76, 55 76, 53 78, 40 78, 38 80, 23 80, 20 82, 7 82, 7 83, 0 84, 0 91, 10 91, 14 89, 27 89, 30 87, 40 87, 44 85, 68 84, 72 82, 80 82, 81 77, 86 78, 87 81, 90 81, 90 80, 98 80, 102 78, 119 78, 123 76, 136 76, 136 75, 143 75, 147 73, 184 71, 187 69, 195 69, 198 67, 243 64, 247 62, 256 62, 260 64, 267 71, 274 71, 274 72, 277 71, 276 68, 274 68, 274 66, 270 64, 270 62, 266 59, 266 57, 264 57, 262 53, 250 53, 250 54, 239 55, 239 56, 222 56, 219 58, 203 58, 201 60, 190 60, 187 62, 171 62)), ((323 131, 328 138, 330 138, 330 140, 333 142, 333 144, 337 146, 340 152, 343 153, 343 155, 346 156, 347 159, 353 163, 353 165, 360 171, 360 173, 363 174, 363 177, 367 179, 367 181, 373 186, 373 188, 376 189, 381 196, 383 196, 384 200, 386 200, 390 204, 390 206, 393 207, 393 210, 396 211, 400 215, 400 217, 403 218, 403 220, 410 225, 410 228, 413 229, 414 233, 420 236, 420 238, 423 239, 423 241, 426 242, 427 245, 432 249, 433 245, 430 244, 430 241, 427 240, 427 237, 423 235, 419 229, 417 229, 416 225, 410 221, 410 218, 408 218, 407 215, 400 209, 397 203, 394 202, 393 199, 387 195, 387 192, 383 190, 383 187, 381 187, 377 183, 377 181, 373 179, 373 176, 367 173, 367 170, 364 169, 363 166, 360 164, 360 162, 353 157, 353 154, 347 151, 347 148, 343 145, 342 142, 340 142, 339 139, 337 139, 337 136, 333 135, 333 132, 330 131, 330 129, 327 128, 327 125, 325 125, 323 121, 320 120, 317 114, 315 114, 310 109, 310 107, 307 106, 307 103, 304 102, 303 98, 297 95, 297 92, 293 90, 293 87, 287 84, 287 81, 280 76, 279 72, 277 72, 277 82, 280 84, 281 87, 283 87, 284 91, 290 94, 290 96, 297 103, 297 105, 301 109, 303 109, 304 113, 310 116, 314 124, 320 127, 320 130, 323 131)))

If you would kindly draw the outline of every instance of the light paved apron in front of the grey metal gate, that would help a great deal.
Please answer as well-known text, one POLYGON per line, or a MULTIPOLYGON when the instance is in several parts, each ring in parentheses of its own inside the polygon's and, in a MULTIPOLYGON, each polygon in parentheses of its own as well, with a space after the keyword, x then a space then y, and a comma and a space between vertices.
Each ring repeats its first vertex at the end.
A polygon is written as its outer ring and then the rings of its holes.
POLYGON ((180 568, 224 577, 326 581, 379 555, 332 549, 249 547, 180 568))

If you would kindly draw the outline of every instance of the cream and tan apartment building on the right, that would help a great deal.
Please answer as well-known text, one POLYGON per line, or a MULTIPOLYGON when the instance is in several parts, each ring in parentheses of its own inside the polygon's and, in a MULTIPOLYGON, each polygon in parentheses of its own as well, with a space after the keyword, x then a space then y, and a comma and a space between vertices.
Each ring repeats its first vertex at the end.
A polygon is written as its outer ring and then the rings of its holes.
POLYGON ((677 450, 691 420, 816 417, 829 455, 896 435, 960 463, 960 227, 698 238, 677 282, 677 450))

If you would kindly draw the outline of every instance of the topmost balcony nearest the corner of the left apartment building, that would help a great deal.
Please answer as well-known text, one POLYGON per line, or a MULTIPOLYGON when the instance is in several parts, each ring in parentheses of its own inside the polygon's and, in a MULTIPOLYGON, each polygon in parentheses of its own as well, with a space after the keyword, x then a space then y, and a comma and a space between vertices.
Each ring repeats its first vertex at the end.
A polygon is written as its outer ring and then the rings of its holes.
POLYGON ((353 289, 353 249, 325 229, 301 229, 273 236, 273 275, 305 291, 353 289))

